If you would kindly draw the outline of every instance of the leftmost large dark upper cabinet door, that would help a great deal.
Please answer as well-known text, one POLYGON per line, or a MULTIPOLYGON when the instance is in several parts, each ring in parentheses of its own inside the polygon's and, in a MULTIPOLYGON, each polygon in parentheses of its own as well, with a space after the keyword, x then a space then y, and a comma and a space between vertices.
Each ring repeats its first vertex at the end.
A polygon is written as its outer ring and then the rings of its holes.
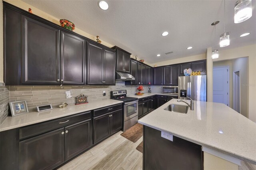
POLYGON ((22 84, 60 84, 60 30, 22 16, 22 84))

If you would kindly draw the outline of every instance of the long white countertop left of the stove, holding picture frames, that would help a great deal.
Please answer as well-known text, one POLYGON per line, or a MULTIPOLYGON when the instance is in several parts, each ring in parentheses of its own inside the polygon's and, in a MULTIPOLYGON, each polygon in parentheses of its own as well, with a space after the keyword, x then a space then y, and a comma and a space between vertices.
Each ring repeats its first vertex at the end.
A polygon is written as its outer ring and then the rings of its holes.
POLYGON ((99 109, 101 107, 116 105, 118 103, 123 103, 123 102, 118 100, 108 99, 108 100, 102 100, 102 101, 97 101, 92 103, 86 103, 82 105, 72 105, 72 106, 68 105, 66 108, 56 108, 50 111, 30 112, 22 115, 17 115, 14 117, 7 117, 4 120, 4 122, 0 125, 0 132, 4 130, 24 127, 27 125, 32 125, 32 124, 40 123, 44 121, 50 121, 52 119, 66 117, 69 115, 74 115, 76 113, 91 111, 94 109, 99 109))

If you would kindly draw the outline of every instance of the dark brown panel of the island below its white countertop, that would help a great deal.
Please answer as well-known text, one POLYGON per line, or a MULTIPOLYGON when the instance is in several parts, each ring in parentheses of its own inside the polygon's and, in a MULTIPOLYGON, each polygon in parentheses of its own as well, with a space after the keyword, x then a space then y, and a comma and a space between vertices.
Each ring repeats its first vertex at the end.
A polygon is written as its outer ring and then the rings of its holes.
POLYGON ((203 170, 203 158, 202 146, 143 126, 143 170, 203 170))

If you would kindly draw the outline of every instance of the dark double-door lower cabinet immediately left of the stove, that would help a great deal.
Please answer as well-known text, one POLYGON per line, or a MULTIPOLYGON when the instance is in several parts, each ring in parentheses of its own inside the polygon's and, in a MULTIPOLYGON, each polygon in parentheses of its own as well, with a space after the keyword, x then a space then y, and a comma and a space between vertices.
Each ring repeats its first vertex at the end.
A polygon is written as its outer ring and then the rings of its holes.
POLYGON ((93 144, 96 144, 111 134, 120 130, 123 126, 123 109, 109 112, 93 118, 93 144))

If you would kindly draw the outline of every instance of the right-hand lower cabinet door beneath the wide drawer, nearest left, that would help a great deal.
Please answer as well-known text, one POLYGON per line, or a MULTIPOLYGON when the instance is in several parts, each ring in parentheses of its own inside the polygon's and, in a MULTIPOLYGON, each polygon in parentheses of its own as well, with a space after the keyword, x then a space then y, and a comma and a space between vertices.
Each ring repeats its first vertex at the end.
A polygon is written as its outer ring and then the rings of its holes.
POLYGON ((65 161, 92 146, 91 119, 65 127, 65 161))

